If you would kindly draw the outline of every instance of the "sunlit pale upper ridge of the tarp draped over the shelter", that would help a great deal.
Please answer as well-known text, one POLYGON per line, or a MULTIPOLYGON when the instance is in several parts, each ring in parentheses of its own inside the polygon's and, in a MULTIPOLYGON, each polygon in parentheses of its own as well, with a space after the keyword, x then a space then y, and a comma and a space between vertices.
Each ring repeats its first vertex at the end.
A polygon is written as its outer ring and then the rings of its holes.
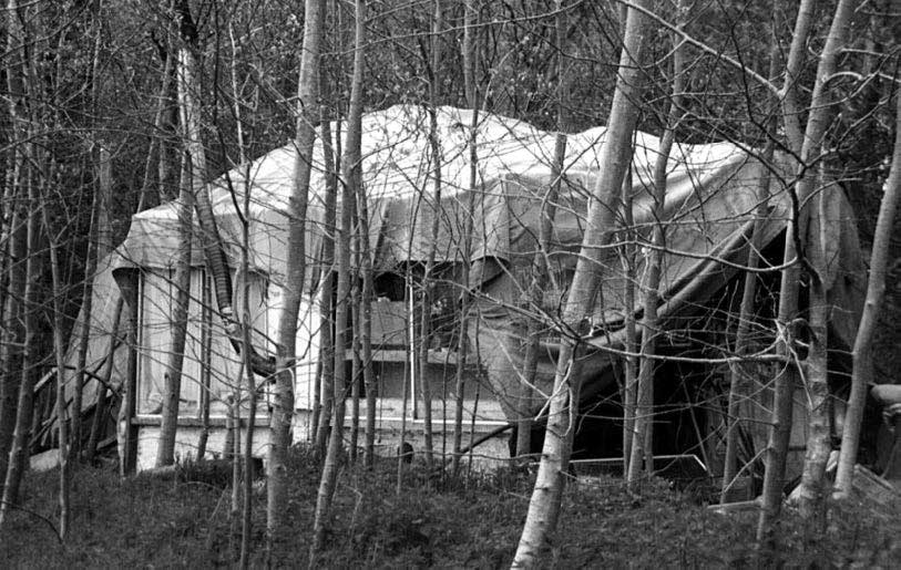
MULTIPOLYGON (((472 111, 446 106, 440 107, 437 115, 442 152, 442 201, 447 203, 455 195, 470 191, 467 145, 472 111)), ((491 191, 492 185, 508 174, 529 170, 550 173, 555 133, 540 131, 522 121, 487 113, 480 113, 477 128, 480 186, 477 191, 491 191)), ((336 131, 346 133, 346 125, 334 124, 332 132, 336 131)), ((428 206, 428 198, 423 199, 421 191, 424 189, 428 194, 431 182, 428 110, 420 105, 396 105, 369 113, 364 116, 364 183, 372 201, 370 211, 387 211, 383 206, 379 206, 385 203, 395 209, 402 209, 405 205, 411 208, 409 205, 416 200, 428 206)), ((600 169, 597 156, 605 132, 605 127, 594 127, 567 135, 567 173, 591 175, 600 169)), ((649 184, 658 144, 657 137, 645 133, 636 134, 633 164, 638 183, 649 184)), ((321 153, 321 145, 317 144, 313 157, 310 211, 307 219, 308 231, 313 234, 327 231, 327 228, 321 227, 320 214, 325 191, 321 153)), ((670 179, 697 176, 704 170, 716 170, 724 164, 746 158, 747 155, 741 149, 729 143, 677 145, 670 158, 669 176, 670 179)), ((296 159, 294 146, 285 145, 249 165, 229 170, 209 184, 211 200, 223 240, 226 249, 235 257, 240 236, 237 207, 243 204, 243 195, 249 186, 252 240, 256 240, 250 247, 250 262, 268 273, 280 272, 284 263, 281 255, 286 243, 279 232, 284 234, 288 224, 296 159), (249 184, 246 184, 248 178, 249 184)), ((378 226, 379 221, 377 219, 373 226, 378 226)), ((420 242, 427 239, 422 236, 424 226, 423 220, 397 224, 401 232, 419 232, 420 239, 414 240, 413 249, 408 250, 405 249, 403 240, 398 238, 393 246, 395 258, 424 257, 420 242)), ((175 203, 136 214, 129 236, 117 250, 114 270, 170 267, 175 258, 176 236, 175 203)), ((375 236, 371 238, 375 239, 375 236)), ((373 256, 378 256, 378 252, 373 251, 373 256)), ((202 263, 199 251, 195 251, 193 262, 202 263)))

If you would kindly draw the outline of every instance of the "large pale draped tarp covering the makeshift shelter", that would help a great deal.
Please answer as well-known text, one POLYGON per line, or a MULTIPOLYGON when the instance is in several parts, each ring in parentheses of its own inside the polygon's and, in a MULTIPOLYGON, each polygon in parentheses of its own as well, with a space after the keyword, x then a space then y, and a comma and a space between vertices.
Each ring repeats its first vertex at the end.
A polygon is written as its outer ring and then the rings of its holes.
MULTIPOLYGON (((467 286, 474 293, 469 331, 473 348, 487 371, 491 388, 509 418, 534 411, 549 394, 552 351, 539 365, 533 400, 523 402, 520 388, 524 355, 525 292, 530 267, 539 249, 541 206, 554 182, 552 162, 555 133, 540 131, 524 122, 492 114, 477 121, 477 183, 470 184, 468 144, 472 112, 452 107, 437 110, 440 141, 441 197, 434 203, 433 164, 429 145, 429 112, 416 105, 398 105, 364 116, 362 180, 370 213, 369 246, 377 272, 399 271, 410 262, 422 262, 434 251, 448 266, 469 260, 472 277, 467 286), (439 217, 438 235, 432 220, 439 217), (467 235, 470 232, 469 235, 467 235)), ((346 125, 332 124, 332 133, 346 133, 346 125)), ((542 310, 560 313, 566 286, 572 279, 582 246, 587 201, 594 188, 605 128, 567 136, 562 188, 556 204, 553 236, 544 253, 550 283, 542 310)), ((657 137, 636 133, 632 162, 634 231, 618 238, 636 242, 641 281, 652 218, 652 172, 657 159, 657 137)), ((242 205, 249 193, 249 259, 253 270, 270 287, 284 286, 288 203, 293 188, 296 152, 291 145, 275 149, 250 165, 236 168, 212 183, 212 201, 218 228, 233 267, 240 251, 242 205)), ((322 146, 317 138, 310 182, 307 225, 307 260, 310 270, 304 283, 313 293, 321 274, 321 247, 331 228, 324 227, 326 173, 322 146)), ((758 207, 761 180, 768 180, 767 216, 760 226, 760 243, 784 232, 792 207, 794 176, 786 160, 761 163, 754 153, 731 143, 674 145, 667 163, 666 251, 661 292, 665 314, 672 319, 704 305, 744 263, 758 207)), ((862 259, 850 206, 836 185, 829 193, 827 224, 829 250, 829 301, 831 327, 837 339, 850 346, 864 290, 862 259)), ((622 213, 620 216, 623 219, 622 213)), ((127 270, 171 268, 177 250, 175 204, 137 214, 124 243, 111 260, 115 276, 127 270)), ((813 230, 813 229, 811 229, 813 230)), ((199 231, 197 229, 197 231, 199 231)), ((199 247, 194 262, 202 265, 199 247)), ((598 268, 602 290, 592 323, 596 344, 622 328, 625 317, 626 279, 621 260, 611 248, 608 262, 598 268)), ((296 286, 296 283, 290 283, 296 286)), ((637 287, 637 304, 642 303, 637 287)), ((533 311, 534 312, 534 311, 533 311)), ((666 320, 664 321, 666 322, 666 320)), ((554 334, 549 334, 549 341, 554 334)), ((549 345, 552 346, 552 342, 549 345)), ((102 346, 98 345, 100 350, 102 346)), ((265 349, 265 346, 263 348, 265 349)), ((92 351, 94 348, 92 348, 92 351)), ((96 356, 96 353, 95 353, 96 356)), ((614 356, 598 351, 584 367, 588 380, 610 380, 614 356), (606 372, 605 372, 606 371, 606 372)))

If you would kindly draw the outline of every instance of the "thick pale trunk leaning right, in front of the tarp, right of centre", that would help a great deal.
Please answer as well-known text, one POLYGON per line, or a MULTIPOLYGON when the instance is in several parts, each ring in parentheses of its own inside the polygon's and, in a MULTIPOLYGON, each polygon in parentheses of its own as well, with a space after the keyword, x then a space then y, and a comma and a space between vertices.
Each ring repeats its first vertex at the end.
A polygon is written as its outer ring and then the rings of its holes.
MULTIPOLYGON (((645 2, 636 2, 636 6, 645 8, 645 2)), ((600 156, 600 164, 605 165, 605 168, 602 169, 588 201, 583 247, 564 305, 563 322, 577 333, 587 332, 586 318, 591 314, 597 292, 597 265, 604 255, 603 246, 612 238, 613 217, 617 210, 623 177, 628 168, 632 134, 638 114, 635 102, 638 101, 638 64, 643 40, 644 18, 637 10, 629 8, 620 56, 620 76, 600 156)), ((513 559, 514 568, 537 566, 541 549, 556 525, 572 434, 575 431, 581 388, 576 356, 581 350, 579 336, 564 335, 557 356, 541 464, 522 537, 513 559)))

